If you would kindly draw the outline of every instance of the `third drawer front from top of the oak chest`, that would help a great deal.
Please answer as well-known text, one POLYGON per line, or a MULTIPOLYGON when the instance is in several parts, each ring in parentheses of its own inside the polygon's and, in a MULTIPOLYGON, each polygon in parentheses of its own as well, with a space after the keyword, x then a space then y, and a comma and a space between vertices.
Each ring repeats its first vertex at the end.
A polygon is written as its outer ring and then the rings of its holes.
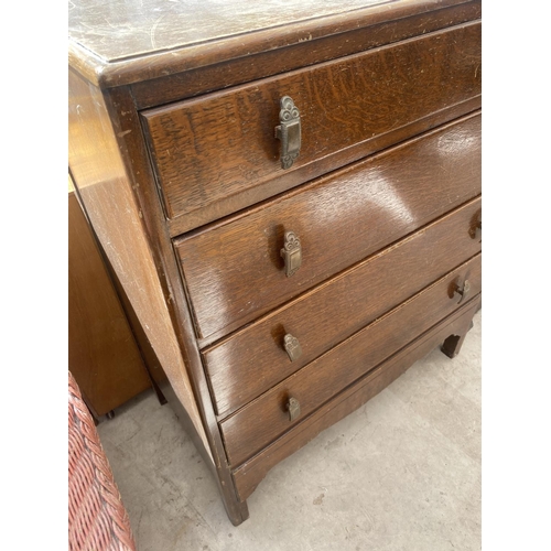
POLYGON ((474 199, 203 352, 219 415, 244 406, 480 250, 474 199), (383 274, 383 277, 381 277, 383 274), (299 339, 291 360, 284 336, 299 339))

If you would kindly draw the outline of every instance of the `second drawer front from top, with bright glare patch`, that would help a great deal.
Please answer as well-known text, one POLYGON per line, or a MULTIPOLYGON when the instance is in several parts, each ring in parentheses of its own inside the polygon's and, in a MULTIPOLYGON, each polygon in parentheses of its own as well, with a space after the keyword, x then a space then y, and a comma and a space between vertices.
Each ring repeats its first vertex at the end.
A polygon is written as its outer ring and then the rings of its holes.
POLYGON ((474 115, 176 239, 199 337, 238 328, 479 193, 474 115), (287 231, 302 250, 291 277, 287 231))

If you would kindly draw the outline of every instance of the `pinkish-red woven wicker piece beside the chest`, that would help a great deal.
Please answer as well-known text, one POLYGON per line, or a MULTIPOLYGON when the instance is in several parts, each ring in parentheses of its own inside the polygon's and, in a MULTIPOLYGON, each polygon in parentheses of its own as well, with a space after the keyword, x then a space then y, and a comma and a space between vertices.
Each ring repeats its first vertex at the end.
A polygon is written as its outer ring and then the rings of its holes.
POLYGON ((69 551, 136 551, 96 425, 71 372, 68 418, 69 551))

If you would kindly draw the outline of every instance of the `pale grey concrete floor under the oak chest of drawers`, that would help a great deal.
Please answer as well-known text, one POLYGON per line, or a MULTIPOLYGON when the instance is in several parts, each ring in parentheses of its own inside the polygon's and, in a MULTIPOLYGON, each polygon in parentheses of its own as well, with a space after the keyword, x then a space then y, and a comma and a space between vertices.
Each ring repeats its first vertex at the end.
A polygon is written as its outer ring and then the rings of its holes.
POLYGON ((239 527, 170 406, 120 408, 98 432, 139 551, 480 549, 480 316, 276 466, 239 527))

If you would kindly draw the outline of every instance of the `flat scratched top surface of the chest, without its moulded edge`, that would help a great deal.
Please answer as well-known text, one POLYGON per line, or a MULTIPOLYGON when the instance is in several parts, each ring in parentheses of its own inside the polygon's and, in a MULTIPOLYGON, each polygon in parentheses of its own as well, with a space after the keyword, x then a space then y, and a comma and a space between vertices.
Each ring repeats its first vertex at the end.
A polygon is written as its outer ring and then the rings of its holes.
POLYGON ((396 1, 73 0, 68 23, 75 42, 115 62, 396 1))

